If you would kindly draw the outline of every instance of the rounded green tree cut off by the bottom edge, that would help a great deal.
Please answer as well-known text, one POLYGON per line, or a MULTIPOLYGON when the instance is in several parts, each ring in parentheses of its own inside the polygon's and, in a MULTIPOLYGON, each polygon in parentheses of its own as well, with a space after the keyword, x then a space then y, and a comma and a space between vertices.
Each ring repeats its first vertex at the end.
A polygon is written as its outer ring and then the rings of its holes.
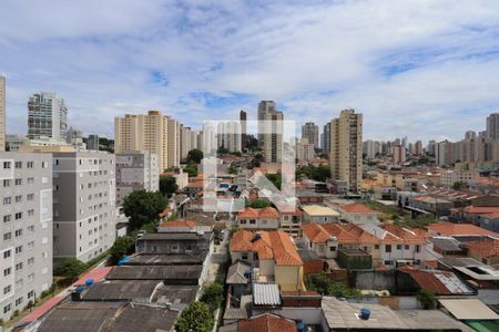
POLYGON ((213 315, 207 304, 192 302, 182 311, 175 324, 177 332, 211 332, 213 329, 213 315))

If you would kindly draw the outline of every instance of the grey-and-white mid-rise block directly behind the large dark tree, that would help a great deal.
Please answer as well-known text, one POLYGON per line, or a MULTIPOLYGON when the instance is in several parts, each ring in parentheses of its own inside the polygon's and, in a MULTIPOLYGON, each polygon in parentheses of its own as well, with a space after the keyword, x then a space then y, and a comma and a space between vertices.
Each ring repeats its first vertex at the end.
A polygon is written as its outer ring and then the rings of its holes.
POLYGON ((134 190, 160 190, 157 155, 142 152, 116 154, 116 206, 134 190))

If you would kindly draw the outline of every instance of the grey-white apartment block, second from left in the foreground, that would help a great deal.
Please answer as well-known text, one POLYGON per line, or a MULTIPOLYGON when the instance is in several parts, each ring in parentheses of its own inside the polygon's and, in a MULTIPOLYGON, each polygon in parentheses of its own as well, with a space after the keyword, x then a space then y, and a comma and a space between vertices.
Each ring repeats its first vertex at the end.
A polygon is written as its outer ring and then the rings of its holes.
POLYGON ((53 257, 84 262, 115 239, 115 159, 106 152, 53 153, 53 257))

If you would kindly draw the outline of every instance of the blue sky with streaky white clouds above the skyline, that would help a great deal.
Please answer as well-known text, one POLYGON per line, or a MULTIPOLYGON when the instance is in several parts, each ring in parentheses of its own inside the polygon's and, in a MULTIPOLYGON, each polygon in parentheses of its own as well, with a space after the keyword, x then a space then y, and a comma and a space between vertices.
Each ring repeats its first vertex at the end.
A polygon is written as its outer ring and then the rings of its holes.
POLYGON ((27 133, 27 101, 57 92, 85 135, 160 110, 204 120, 319 126, 344 108, 364 138, 461 139, 499 112, 499 1, 2 0, 7 132, 27 133))

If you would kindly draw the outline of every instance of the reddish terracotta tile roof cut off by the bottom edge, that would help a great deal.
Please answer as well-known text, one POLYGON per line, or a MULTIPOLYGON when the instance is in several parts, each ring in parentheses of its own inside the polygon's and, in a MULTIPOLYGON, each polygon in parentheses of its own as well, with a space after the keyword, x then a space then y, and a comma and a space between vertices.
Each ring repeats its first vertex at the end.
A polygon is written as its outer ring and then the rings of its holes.
POLYGON ((296 332, 296 324, 271 313, 253 317, 247 320, 241 320, 238 332, 296 332))

